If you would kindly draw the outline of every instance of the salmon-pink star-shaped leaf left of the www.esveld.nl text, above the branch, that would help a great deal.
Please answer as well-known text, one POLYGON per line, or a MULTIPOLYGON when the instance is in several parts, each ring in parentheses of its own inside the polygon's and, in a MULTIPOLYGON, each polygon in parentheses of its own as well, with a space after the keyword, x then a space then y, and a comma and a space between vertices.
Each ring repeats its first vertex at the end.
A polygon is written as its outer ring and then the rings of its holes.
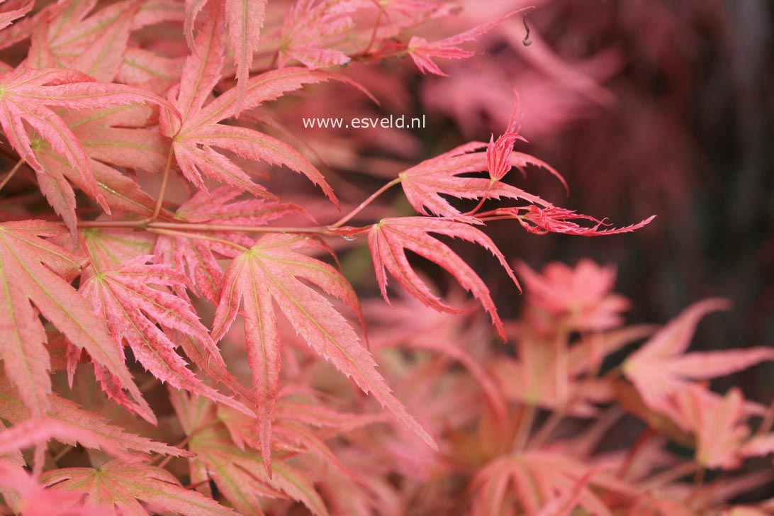
POLYGON ((206 190, 202 179, 204 174, 242 191, 273 197, 263 186, 253 183, 250 176, 234 162, 213 149, 217 147, 246 159, 284 165, 303 173, 319 185, 330 200, 337 203, 333 190, 320 171, 296 149, 261 132, 218 122, 238 114, 238 100, 241 108, 255 108, 265 101, 297 90, 303 84, 347 80, 330 73, 314 73, 306 68, 272 70, 252 77, 245 82, 244 87, 226 91, 204 106, 221 78, 223 46, 222 25, 217 17, 208 19, 197 36, 194 53, 183 67, 183 77, 175 99, 176 106, 183 114, 183 124, 162 120, 165 134, 173 138, 175 158, 183 175, 200 190, 206 190))

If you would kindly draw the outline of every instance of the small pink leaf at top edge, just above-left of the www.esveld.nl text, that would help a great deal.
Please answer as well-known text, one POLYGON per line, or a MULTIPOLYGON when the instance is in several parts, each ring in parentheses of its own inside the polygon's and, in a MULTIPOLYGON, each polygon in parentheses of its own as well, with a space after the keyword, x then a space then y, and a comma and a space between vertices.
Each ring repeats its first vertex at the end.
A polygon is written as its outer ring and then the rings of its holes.
POLYGON ((341 50, 325 48, 324 39, 351 29, 354 22, 348 15, 360 3, 297 0, 283 22, 277 66, 297 60, 314 70, 348 63, 350 57, 341 50))

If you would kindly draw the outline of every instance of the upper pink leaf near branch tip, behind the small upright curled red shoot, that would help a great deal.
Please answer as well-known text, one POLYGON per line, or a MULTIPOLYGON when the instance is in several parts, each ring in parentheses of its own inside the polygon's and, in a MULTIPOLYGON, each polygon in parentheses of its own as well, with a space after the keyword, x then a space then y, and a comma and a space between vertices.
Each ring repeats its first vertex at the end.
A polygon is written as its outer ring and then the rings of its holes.
MULTIPOLYGON (((440 217, 458 217, 460 210, 452 206, 443 196, 454 196, 458 199, 522 199, 543 207, 551 207, 551 203, 539 196, 524 190, 483 177, 469 177, 464 174, 483 172, 487 170, 487 155, 477 152, 485 146, 483 143, 471 142, 451 149, 444 154, 427 159, 420 164, 399 174, 406 198, 420 214, 434 214, 440 217)), ((554 169, 539 159, 521 152, 509 155, 512 166, 526 164, 540 166, 559 176, 554 169)))

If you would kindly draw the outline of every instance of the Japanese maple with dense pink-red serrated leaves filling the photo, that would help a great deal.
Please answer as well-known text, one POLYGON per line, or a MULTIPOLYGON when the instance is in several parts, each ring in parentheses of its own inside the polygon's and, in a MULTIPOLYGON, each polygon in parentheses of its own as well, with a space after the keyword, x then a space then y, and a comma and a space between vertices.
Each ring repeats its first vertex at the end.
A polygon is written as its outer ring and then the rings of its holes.
POLYGON ((0 0, 3 510, 769 511, 731 507, 705 475, 774 451, 771 408, 706 384, 771 348, 687 352, 726 302, 625 326, 614 268, 514 272, 495 244, 501 220, 603 236, 654 218, 605 228, 512 184, 537 168, 568 189, 515 150, 518 94, 497 138, 392 162, 357 200, 275 108, 389 104, 380 67, 445 76, 434 60, 473 57, 515 8, 449 36, 433 29, 458 14, 447 2, 0 0), (384 203, 398 185, 405 205, 384 203), (497 291, 477 247, 505 272, 497 291), (373 277, 348 278, 347 251, 373 277), (526 309, 501 316, 519 279, 526 309), (624 411, 642 435, 595 453, 624 411))

